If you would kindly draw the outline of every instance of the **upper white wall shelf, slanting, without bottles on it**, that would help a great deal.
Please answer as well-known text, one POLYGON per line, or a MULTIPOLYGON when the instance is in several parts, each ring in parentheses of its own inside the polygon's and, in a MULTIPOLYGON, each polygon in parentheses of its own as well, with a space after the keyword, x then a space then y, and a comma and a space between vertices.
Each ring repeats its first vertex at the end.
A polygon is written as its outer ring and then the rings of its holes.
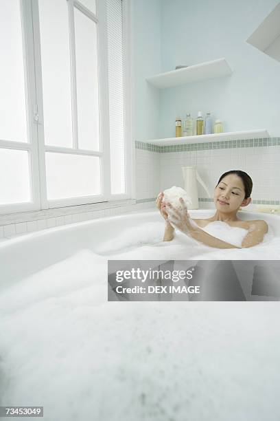
POLYGON ((172 70, 171 72, 156 74, 146 80, 158 88, 168 88, 185 83, 198 82, 199 80, 220 78, 231 74, 232 70, 224 58, 213 61, 206 61, 183 69, 172 70))

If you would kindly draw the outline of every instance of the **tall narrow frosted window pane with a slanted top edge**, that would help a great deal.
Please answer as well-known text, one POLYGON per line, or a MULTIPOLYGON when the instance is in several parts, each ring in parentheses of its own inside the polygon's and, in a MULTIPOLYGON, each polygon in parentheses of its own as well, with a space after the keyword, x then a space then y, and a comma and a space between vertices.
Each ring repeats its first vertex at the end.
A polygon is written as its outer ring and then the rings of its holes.
POLYGON ((78 144, 100 150, 96 23, 75 9, 78 144))

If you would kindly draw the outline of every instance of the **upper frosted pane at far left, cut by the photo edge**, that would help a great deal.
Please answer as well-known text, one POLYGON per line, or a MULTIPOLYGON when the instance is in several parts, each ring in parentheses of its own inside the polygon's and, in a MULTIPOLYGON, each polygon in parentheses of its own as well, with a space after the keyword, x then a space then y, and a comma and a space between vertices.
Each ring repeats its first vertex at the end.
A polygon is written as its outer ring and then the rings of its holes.
POLYGON ((27 142, 21 9, 1 1, 0 139, 27 142))

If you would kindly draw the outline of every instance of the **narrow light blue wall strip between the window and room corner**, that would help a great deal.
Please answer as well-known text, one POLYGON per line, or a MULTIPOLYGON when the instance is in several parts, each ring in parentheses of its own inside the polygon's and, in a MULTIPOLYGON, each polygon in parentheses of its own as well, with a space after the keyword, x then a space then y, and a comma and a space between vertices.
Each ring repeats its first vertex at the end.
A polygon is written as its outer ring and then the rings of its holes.
POLYGON ((134 140, 159 136, 159 90, 147 76, 161 72, 161 0, 131 0, 134 140))

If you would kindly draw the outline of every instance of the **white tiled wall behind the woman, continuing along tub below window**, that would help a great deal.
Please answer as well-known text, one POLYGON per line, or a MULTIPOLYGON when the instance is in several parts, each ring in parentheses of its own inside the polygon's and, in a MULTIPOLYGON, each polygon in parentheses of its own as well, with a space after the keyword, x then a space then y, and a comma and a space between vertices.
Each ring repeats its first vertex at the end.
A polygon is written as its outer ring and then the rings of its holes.
MULTIPOLYGON (((61 210, 60 215, 52 215, 54 210, 46 211, 46 215, 26 213, 30 218, 25 222, 19 222, 16 215, 10 215, 10 220, 6 220, 5 224, 0 222, 0 240, 45 228, 154 207, 159 191, 174 185, 183 186, 182 166, 197 166, 209 191, 213 191, 223 172, 241 169, 253 178, 253 203, 280 204, 280 138, 177 144, 172 147, 136 142, 135 146, 136 204, 130 201, 130 204, 94 210, 91 205, 86 205, 87 208, 82 212, 61 210)), ((201 208, 212 206, 211 198, 207 197, 200 185, 198 196, 201 208)))

